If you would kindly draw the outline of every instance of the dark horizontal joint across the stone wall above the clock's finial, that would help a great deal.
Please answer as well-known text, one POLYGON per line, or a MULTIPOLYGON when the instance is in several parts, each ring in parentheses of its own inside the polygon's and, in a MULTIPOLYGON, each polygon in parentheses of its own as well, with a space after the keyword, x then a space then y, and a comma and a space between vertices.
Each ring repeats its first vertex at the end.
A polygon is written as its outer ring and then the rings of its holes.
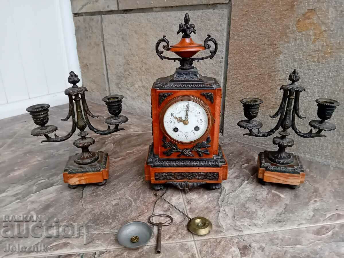
POLYGON ((94 11, 94 12, 79 12, 73 13, 74 17, 80 16, 94 16, 94 15, 111 15, 111 14, 133 14, 133 13, 159 13, 159 12, 175 12, 175 11, 197 11, 197 10, 213 10, 224 9, 228 7, 228 3, 213 3, 213 4, 194 4, 183 6, 164 6, 164 7, 148 7, 136 9, 122 9, 111 11, 94 11))

